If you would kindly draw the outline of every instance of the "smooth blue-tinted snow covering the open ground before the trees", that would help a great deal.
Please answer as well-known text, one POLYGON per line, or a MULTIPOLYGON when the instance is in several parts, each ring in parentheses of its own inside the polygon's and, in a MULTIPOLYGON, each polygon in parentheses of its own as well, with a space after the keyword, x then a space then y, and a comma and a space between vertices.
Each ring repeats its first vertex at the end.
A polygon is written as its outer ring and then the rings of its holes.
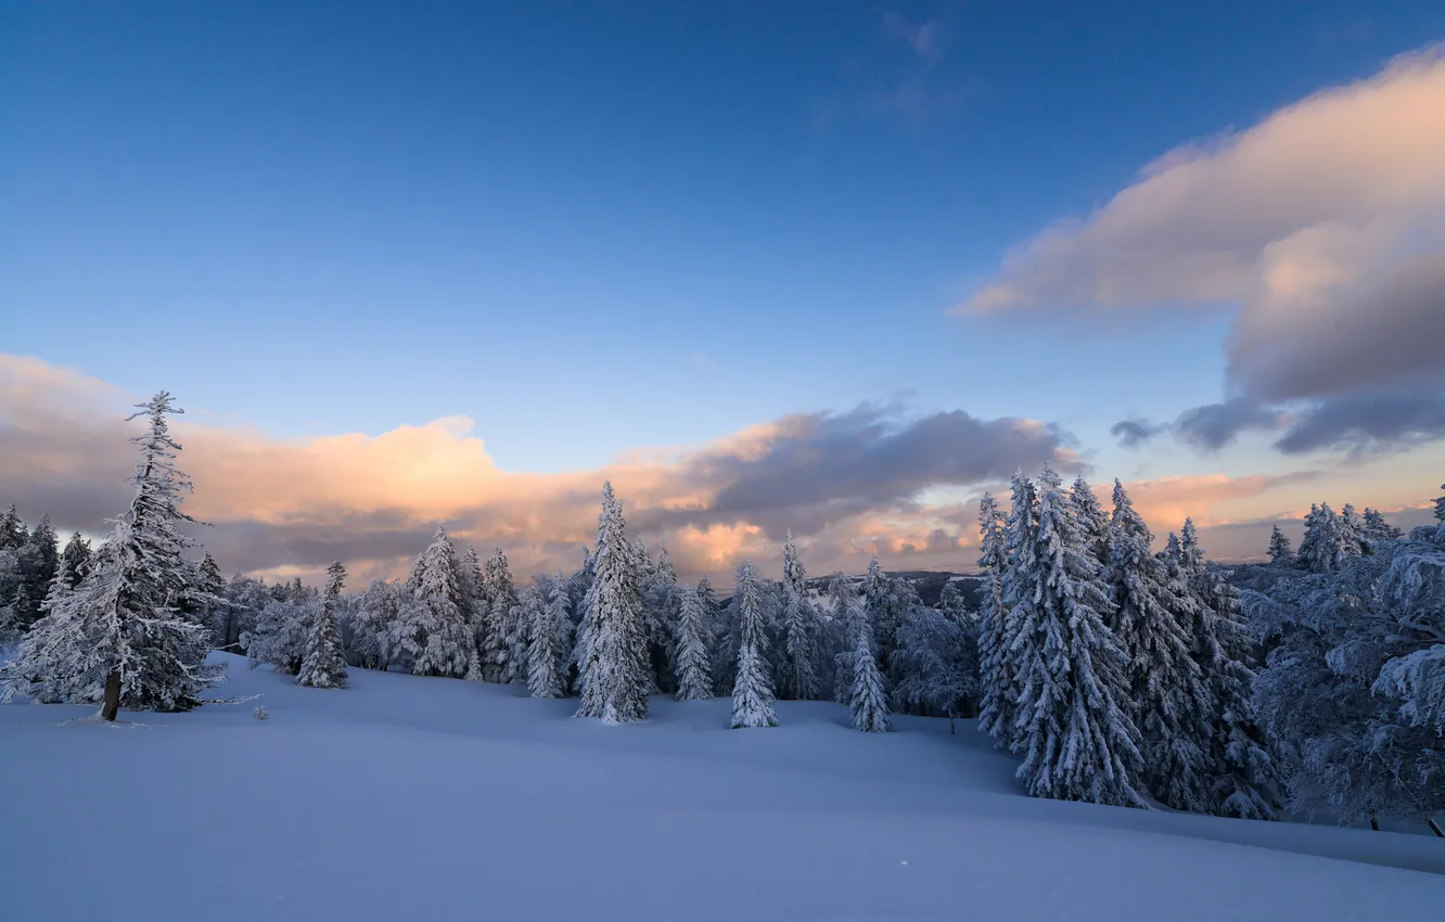
POLYGON ((1023 796, 971 721, 847 727, 655 698, 572 720, 517 686, 227 656, 191 714, 0 707, 6 922, 1431 919, 1445 843, 1023 796), (251 718, 264 704, 270 720, 251 718))

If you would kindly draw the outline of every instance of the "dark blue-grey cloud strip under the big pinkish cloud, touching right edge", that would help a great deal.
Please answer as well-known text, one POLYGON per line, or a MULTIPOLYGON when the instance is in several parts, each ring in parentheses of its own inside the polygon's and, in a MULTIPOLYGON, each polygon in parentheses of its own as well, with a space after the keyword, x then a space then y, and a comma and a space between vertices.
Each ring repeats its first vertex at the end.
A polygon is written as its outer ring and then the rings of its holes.
POLYGON ((1274 447, 1285 454, 1400 451, 1445 438, 1445 395, 1358 393, 1311 406, 1274 447))

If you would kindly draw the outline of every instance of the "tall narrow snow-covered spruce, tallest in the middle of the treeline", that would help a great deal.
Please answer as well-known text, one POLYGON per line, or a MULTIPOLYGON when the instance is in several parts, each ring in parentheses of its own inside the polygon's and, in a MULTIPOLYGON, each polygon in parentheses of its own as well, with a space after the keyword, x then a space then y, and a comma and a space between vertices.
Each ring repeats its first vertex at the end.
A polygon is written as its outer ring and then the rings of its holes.
POLYGON ((592 587, 578 634, 578 717, 623 724, 647 717, 647 623, 637 582, 637 558, 627 540, 621 503, 603 484, 597 517, 592 587))

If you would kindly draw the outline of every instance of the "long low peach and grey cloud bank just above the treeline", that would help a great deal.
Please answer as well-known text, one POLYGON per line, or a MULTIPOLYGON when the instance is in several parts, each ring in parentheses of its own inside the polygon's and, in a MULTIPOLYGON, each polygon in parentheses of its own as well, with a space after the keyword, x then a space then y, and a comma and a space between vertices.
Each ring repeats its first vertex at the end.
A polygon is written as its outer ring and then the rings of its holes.
MULTIPOLYGON (((130 499, 126 439, 139 423, 123 418, 133 402, 78 371, 0 356, 0 500, 13 497, 32 519, 49 512, 65 529, 101 530, 130 499)), ((665 539, 686 575, 725 577, 743 555, 772 559, 789 527, 815 568, 858 569, 873 552, 958 565, 957 553, 945 559, 957 525, 920 493, 1045 461, 1078 467, 1052 426, 961 410, 912 418, 897 406, 799 413, 683 451, 545 475, 500 470, 467 418, 279 439, 192 413, 173 432, 197 483, 186 509, 212 523, 198 538, 223 568, 314 574, 341 559, 353 581, 405 572, 436 522, 483 551, 503 546, 520 574, 572 569, 595 535, 604 478, 633 533, 665 539)))

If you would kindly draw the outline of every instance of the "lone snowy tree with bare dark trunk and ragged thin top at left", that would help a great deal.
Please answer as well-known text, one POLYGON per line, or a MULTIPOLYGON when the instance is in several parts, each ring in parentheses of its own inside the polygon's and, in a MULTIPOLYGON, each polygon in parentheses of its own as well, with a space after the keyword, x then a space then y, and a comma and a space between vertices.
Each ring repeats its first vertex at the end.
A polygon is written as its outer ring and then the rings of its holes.
POLYGON ((127 422, 144 416, 149 428, 131 439, 140 461, 130 507, 111 520, 91 574, 40 619, 49 621, 45 630, 38 636, 32 630, 16 660, 0 671, 7 689, 29 685, 38 663, 55 669, 68 694, 101 686, 107 721, 116 720, 121 704, 189 710, 217 675, 204 662, 204 629, 179 614, 181 601, 195 588, 195 571, 184 556, 191 540, 176 527, 194 520, 181 512, 191 481, 173 464, 181 445, 166 421, 181 410, 163 390, 136 406, 142 412, 127 422))

